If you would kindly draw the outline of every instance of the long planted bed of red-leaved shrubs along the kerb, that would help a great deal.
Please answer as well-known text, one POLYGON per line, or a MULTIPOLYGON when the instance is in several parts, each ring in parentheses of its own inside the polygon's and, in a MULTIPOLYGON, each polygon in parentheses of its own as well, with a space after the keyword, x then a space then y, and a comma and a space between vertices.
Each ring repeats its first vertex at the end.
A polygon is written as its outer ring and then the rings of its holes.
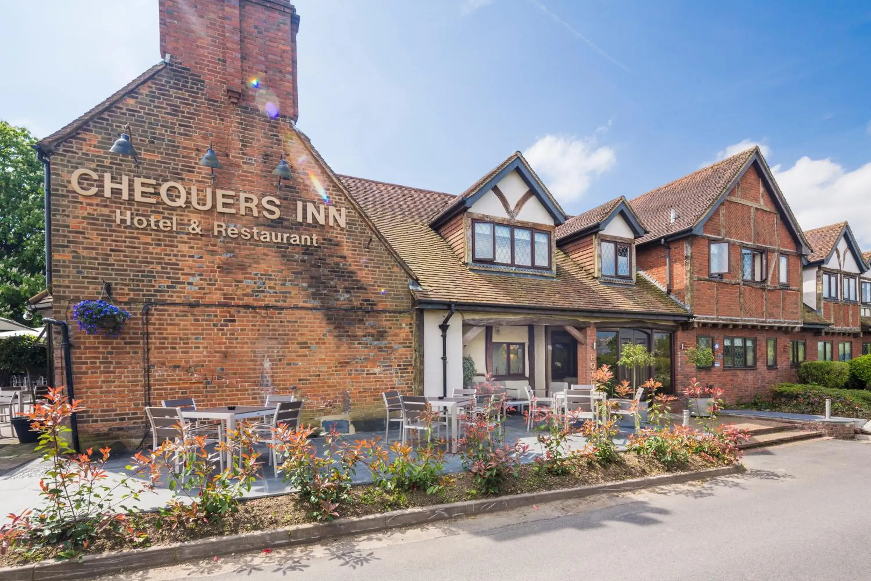
MULTIPOLYGON (((604 386, 612 378, 603 366, 593 375, 604 386)), ((486 386, 485 386, 486 387, 486 386)), ((61 389, 50 390, 44 402, 28 413, 31 429, 40 432, 37 452, 47 469, 40 482, 42 503, 10 515, 0 524, 0 566, 47 559, 78 559, 111 551, 159 547, 184 541, 274 530, 296 524, 324 523, 338 518, 368 517, 393 510, 619 483, 664 472, 705 470, 738 463, 739 443, 746 432, 715 426, 712 418, 701 429, 668 423, 672 395, 657 394, 650 380, 647 415, 655 427, 636 430, 619 452, 618 420, 609 402, 597 402, 594 419, 582 424, 571 411, 544 409, 530 418, 537 423, 537 455, 522 464, 530 445, 505 443, 503 402, 496 392, 490 406, 469 412, 463 438, 456 443, 430 440, 436 414, 422 409, 419 423, 430 426, 419 445, 382 445, 379 438, 342 440, 335 433, 313 442, 314 429, 279 423, 261 436, 262 428, 241 423, 217 443, 203 428, 179 422, 156 449, 139 451, 127 469, 134 476, 111 482, 105 463, 108 448, 95 453, 72 450, 65 436, 72 414, 84 409, 68 401, 61 389), (495 402, 495 403, 494 403, 495 402), (583 436, 574 449, 572 436, 583 436), (265 442, 264 442, 265 440, 265 442), (287 490, 277 497, 245 499, 252 484, 269 470, 257 444, 266 443, 274 470, 287 490), (446 450, 454 444, 463 470, 446 472, 446 450), (219 462, 225 458, 226 465, 219 462), (220 465, 220 469, 218 466, 220 465), (371 483, 352 484, 358 473, 371 483), (367 474, 368 473, 368 474, 367 474), (165 485, 174 496, 154 512, 129 510, 131 501, 165 485)), ((631 388, 618 386, 623 396, 631 388)), ((616 403, 619 403, 616 402, 616 403)), ((281 406, 276 411, 280 413, 281 406)))

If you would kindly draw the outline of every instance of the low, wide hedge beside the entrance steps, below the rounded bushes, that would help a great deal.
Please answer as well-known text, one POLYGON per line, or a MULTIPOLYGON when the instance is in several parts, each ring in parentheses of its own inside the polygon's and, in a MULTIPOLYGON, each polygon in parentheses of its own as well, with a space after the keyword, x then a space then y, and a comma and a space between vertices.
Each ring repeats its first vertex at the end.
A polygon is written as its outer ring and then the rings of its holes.
POLYGON ((754 403, 754 407, 792 414, 826 413, 826 399, 832 399, 832 415, 861 417, 871 420, 871 391, 865 389, 824 388, 820 385, 778 383, 772 386, 769 401, 754 403))

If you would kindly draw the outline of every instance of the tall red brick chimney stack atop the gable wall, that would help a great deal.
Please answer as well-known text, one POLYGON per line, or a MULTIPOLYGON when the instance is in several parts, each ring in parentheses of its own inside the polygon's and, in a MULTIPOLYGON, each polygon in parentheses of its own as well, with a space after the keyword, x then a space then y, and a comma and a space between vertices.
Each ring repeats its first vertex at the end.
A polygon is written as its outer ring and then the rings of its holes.
POLYGON ((159 10, 160 54, 204 78, 213 98, 254 106, 260 91, 296 121, 300 17, 290 0, 159 0, 159 10))

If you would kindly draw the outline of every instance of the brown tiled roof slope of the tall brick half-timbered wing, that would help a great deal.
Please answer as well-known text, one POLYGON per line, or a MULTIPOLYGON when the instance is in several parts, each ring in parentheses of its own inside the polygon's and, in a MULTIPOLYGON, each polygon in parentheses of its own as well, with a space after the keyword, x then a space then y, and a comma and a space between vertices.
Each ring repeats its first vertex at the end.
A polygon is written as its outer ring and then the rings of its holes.
POLYGON ((632 208, 649 231, 636 242, 643 244, 696 226, 756 152, 753 147, 631 199, 632 208), (676 214, 673 224, 672 209, 676 214))

